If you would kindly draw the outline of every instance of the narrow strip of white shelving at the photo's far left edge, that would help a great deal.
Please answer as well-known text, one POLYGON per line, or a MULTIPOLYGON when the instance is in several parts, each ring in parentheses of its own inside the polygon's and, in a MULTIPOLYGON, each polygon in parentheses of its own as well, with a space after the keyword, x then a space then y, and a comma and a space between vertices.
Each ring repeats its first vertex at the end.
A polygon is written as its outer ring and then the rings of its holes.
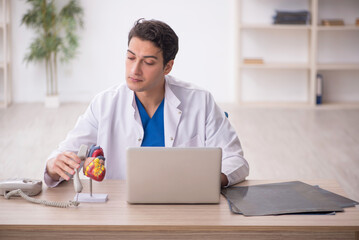
POLYGON ((11 104, 10 1, 1 0, 0 4, 0 107, 6 108, 11 104))

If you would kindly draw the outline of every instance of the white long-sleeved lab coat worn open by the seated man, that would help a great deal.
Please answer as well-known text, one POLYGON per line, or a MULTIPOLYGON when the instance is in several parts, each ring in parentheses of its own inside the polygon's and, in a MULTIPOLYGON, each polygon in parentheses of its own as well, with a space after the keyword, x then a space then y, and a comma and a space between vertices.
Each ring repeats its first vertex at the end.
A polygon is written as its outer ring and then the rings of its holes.
MULTIPOLYGON (((228 185, 244 180, 249 166, 241 144, 212 95, 174 77, 165 79, 165 146, 221 147, 222 172, 228 185)), ((126 84, 116 85, 95 96, 49 159, 63 151, 77 153, 81 144, 100 145, 106 157, 106 179, 126 179, 126 149, 140 147, 143 134, 134 92, 126 84)), ((44 179, 50 187, 63 180, 52 181, 46 170, 44 179)))

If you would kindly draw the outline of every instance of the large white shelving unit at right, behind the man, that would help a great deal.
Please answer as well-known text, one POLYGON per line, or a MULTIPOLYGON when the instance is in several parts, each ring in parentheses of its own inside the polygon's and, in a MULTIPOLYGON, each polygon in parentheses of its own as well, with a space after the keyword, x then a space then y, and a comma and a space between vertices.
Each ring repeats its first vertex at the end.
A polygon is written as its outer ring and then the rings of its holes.
MULTIPOLYGON (((277 0, 265 1, 266 4, 259 4, 259 1, 239 0, 238 10, 240 17, 238 18, 239 23, 236 27, 239 31, 238 57, 236 59, 239 65, 237 73, 239 78, 237 84, 238 103, 241 106, 358 107, 359 101, 353 103, 338 103, 334 101, 333 103, 329 102, 316 105, 316 77, 318 72, 332 77, 343 75, 344 80, 350 79, 350 81, 341 81, 335 84, 343 84, 343 86, 345 84, 345 87, 347 87, 345 89, 353 90, 353 96, 357 94, 356 89, 358 85, 354 78, 356 78, 357 71, 359 71, 359 60, 356 56, 359 26, 355 25, 355 20, 353 22, 353 19, 359 17, 357 15, 359 10, 357 1, 358 0, 351 0, 351 2, 356 2, 352 6, 352 4, 344 4, 344 1, 343 3, 334 4, 334 2, 336 2, 335 0, 328 1, 328 4, 323 4, 323 2, 319 3, 320 0, 298 0, 295 1, 295 3, 283 1, 283 3, 285 2, 286 4, 282 4, 282 2, 278 3, 277 0), (323 5, 325 6, 323 7, 323 5), (338 8, 338 6, 340 6, 340 8, 338 8), (273 24, 271 18, 273 16, 272 12, 285 8, 309 11, 311 13, 311 23, 301 25, 273 24), (348 16, 343 14, 347 14, 348 16), (321 19, 324 17, 328 19, 343 19, 351 24, 343 26, 324 26, 321 25, 321 19), (281 31, 284 34, 282 34, 281 31), (327 36, 329 33, 331 34, 327 36), (346 57, 347 55, 348 57, 346 57), (245 63, 244 59, 250 59, 250 56, 252 56, 254 60, 263 59, 264 63, 245 63), (273 58, 271 58, 272 56, 273 58), (272 61, 270 61, 270 59, 272 59, 272 61), (272 70, 273 72, 271 72, 272 70), (292 72, 294 73, 293 70, 298 70, 295 73, 297 78, 293 79, 293 83, 296 84, 293 85, 294 87, 281 82, 281 77, 283 76, 283 79, 285 79, 285 77, 290 76, 292 72), (293 102, 290 101, 290 98, 285 98, 288 99, 288 102, 282 103, 280 101, 266 100, 262 102, 248 102, 246 99, 256 100, 260 98, 260 96, 255 95, 258 94, 255 91, 249 90, 248 93, 246 89, 244 89, 249 86, 243 82, 244 76, 248 77, 248 74, 252 74, 251 79, 255 82, 255 85, 252 84, 250 86, 253 89, 262 89, 267 86, 267 83, 256 82, 257 79, 273 79, 275 80, 274 84, 276 84, 276 86, 274 87, 276 88, 283 86, 283 89, 288 87, 291 91, 295 91, 296 86, 301 87, 300 94, 303 93, 301 96, 303 96, 303 98, 305 97, 305 101, 299 101, 300 99, 298 98, 299 102, 293 102), (347 86, 347 84, 353 84, 353 87, 351 88, 351 86, 347 86), (244 96, 245 98, 243 98, 244 96)), ((337 79, 338 77, 333 78, 337 79)), ((325 93, 327 99, 330 100, 331 96, 334 96, 337 92, 338 94, 342 94, 340 90, 341 89, 325 93)), ((350 99, 354 100, 354 98, 350 99)))

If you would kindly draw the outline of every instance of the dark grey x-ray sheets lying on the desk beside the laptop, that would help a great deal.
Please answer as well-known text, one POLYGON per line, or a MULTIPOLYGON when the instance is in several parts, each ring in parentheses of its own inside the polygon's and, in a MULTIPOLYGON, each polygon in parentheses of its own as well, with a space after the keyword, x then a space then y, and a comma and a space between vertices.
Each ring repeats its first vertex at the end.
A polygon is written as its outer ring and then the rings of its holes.
POLYGON ((300 181, 222 189, 232 212, 245 216, 341 212, 358 204, 300 181))

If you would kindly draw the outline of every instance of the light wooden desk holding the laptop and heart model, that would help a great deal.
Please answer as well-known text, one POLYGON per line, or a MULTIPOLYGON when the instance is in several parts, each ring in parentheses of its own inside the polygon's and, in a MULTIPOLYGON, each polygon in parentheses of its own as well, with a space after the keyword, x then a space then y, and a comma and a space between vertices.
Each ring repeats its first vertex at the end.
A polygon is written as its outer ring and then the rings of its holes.
MULTIPOLYGON (((344 195, 334 181, 305 182, 344 195)), ((125 187, 124 181, 96 182, 94 192, 109 193, 107 203, 66 209, 1 197, 0 239, 359 239, 356 207, 336 215, 244 217, 232 214, 223 196, 216 205, 131 205, 125 187)), ((74 195, 72 183, 64 183, 44 187, 38 198, 68 201, 74 195)))

